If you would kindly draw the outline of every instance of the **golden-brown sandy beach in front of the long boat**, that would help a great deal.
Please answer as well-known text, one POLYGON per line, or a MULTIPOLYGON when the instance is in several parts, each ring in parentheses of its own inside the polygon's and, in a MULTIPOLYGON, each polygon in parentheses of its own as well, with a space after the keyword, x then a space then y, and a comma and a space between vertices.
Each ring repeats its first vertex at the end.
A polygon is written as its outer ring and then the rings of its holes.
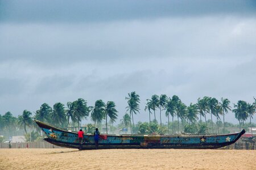
POLYGON ((256 150, 0 149, 0 169, 256 169, 256 150))

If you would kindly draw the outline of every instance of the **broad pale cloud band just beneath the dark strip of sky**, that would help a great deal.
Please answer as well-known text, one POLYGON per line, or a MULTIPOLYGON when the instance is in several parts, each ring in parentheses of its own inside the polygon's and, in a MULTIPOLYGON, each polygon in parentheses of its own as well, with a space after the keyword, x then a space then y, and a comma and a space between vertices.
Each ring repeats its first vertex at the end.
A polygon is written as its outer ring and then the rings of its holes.
POLYGON ((248 56, 256 53, 255 26, 254 18, 228 16, 75 25, 2 24, 0 59, 61 65, 137 57, 248 56))

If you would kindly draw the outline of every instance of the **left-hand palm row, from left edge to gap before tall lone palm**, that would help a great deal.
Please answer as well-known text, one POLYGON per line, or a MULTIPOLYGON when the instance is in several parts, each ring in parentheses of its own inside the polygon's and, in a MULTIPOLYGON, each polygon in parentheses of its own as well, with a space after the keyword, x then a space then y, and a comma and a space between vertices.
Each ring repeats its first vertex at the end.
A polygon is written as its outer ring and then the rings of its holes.
MULTIPOLYGON (((47 103, 41 105, 40 109, 35 112, 35 115, 32 116, 30 111, 24 110, 22 115, 19 115, 18 118, 14 117, 11 112, 5 113, 3 116, 0 114, 0 130, 6 129, 7 131, 10 128, 18 125, 23 127, 25 133, 27 133, 27 128, 38 127, 35 125, 32 118, 36 120, 48 122, 55 126, 65 128, 69 126, 69 121, 72 121, 73 126, 81 126, 82 119, 89 116, 91 112, 91 118, 94 122, 101 124, 102 120, 106 120, 106 127, 108 127, 108 117, 110 121, 114 122, 117 119, 117 110, 115 109, 115 103, 113 101, 108 101, 106 104, 102 100, 97 100, 94 107, 87 105, 87 102, 84 99, 77 99, 73 102, 67 103, 67 108, 64 104, 56 103, 51 108, 47 103)), ((108 128, 107 133, 108 133, 108 128)))

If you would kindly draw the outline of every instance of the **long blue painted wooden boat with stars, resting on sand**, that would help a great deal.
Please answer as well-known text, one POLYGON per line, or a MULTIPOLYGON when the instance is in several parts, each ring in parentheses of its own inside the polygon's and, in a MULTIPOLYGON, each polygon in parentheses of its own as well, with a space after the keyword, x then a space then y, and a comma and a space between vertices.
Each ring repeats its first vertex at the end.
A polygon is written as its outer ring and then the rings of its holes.
MULTIPOLYGON (((56 146, 80 148, 77 133, 35 120, 46 133, 45 141, 56 146)), ((98 148, 220 148, 235 143, 241 132, 220 135, 100 135, 98 148)), ((84 134, 81 149, 94 149, 93 134, 84 134)))

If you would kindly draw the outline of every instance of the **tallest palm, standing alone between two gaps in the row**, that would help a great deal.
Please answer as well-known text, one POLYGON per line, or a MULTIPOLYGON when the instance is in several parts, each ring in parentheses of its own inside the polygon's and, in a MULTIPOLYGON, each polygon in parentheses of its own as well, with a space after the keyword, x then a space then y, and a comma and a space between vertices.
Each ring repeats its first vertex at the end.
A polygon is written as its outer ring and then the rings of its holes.
MULTIPOLYGON (((139 113, 139 103, 140 103, 139 95, 137 95, 136 92, 134 91, 128 94, 128 96, 129 97, 125 97, 125 99, 128 100, 127 101, 128 106, 126 108, 127 108, 127 111, 130 112, 130 117, 133 119, 133 113, 134 114, 139 113)), ((133 119, 133 127, 134 127, 134 119, 133 119)))

